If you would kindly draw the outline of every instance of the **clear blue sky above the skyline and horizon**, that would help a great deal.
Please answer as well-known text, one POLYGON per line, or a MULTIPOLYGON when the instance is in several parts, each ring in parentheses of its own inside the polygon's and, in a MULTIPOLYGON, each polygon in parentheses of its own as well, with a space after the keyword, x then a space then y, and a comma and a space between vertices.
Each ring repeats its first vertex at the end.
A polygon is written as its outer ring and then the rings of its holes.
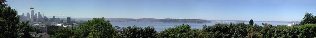
MULTIPOLYGON (((316 15, 316 0, 8 0, 19 14, 80 18, 300 21, 316 15)), ((48 17, 52 18, 52 17, 48 17)))

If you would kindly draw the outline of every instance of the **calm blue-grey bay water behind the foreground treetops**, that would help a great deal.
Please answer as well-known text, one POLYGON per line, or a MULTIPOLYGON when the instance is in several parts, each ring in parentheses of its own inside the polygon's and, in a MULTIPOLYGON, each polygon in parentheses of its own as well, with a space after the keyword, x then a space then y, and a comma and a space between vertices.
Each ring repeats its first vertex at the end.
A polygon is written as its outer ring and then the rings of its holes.
MULTIPOLYGON (((230 23, 230 21, 225 21, 227 23, 230 23)), ((174 27, 175 25, 182 25, 182 24, 190 24, 191 29, 202 29, 204 24, 199 23, 164 23, 164 22, 110 22, 113 26, 119 26, 119 27, 128 27, 128 26, 138 26, 138 27, 147 27, 147 26, 154 26, 155 30, 157 32, 160 32, 162 30, 165 30, 170 27, 174 27)), ((232 22, 237 23, 237 22, 232 22)), ((262 23, 272 24, 272 25, 288 25, 291 23, 277 23, 277 22, 254 22, 254 24, 258 24, 262 26, 262 23)), ((216 22, 207 23, 207 26, 211 26, 216 24, 216 22)), ((245 24, 249 24, 249 22, 245 22, 245 24)))

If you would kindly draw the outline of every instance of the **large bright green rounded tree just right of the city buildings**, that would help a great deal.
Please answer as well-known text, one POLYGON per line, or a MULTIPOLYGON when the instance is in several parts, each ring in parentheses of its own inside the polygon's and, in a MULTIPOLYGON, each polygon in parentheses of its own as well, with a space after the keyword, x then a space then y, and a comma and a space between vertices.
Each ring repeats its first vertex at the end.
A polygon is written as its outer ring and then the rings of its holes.
POLYGON ((119 33, 112 28, 109 21, 102 18, 93 18, 92 20, 82 23, 76 31, 78 37, 100 38, 100 37, 116 37, 119 33))

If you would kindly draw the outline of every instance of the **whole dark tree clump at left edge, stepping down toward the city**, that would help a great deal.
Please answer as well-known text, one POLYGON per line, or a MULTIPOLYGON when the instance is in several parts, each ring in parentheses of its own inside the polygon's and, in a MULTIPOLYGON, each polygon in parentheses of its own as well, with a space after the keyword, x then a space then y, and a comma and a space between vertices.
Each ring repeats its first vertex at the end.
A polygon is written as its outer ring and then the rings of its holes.
POLYGON ((17 11, 11 9, 5 2, 7 1, 0 1, 0 38, 31 38, 30 32, 35 32, 38 29, 28 24, 28 22, 20 23, 17 11))

